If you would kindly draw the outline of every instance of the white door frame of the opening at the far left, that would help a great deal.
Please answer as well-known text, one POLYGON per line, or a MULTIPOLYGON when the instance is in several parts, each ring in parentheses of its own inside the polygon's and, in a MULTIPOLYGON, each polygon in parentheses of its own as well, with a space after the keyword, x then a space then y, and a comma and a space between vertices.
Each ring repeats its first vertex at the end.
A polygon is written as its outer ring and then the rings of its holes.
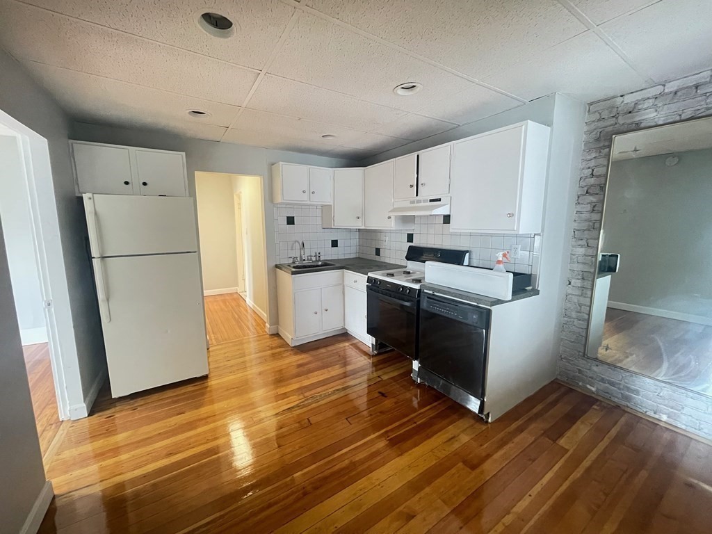
POLYGON ((0 126, 18 140, 23 162, 23 180, 29 198, 30 226, 39 283, 44 301, 57 409, 61 420, 70 419, 63 340, 73 343, 66 271, 59 234, 59 220, 47 140, 0 110, 0 126), (57 289, 53 291, 53 289, 57 289), (56 310, 59 310, 58 312, 56 310), (62 318, 61 321, 57 317, 62 318))

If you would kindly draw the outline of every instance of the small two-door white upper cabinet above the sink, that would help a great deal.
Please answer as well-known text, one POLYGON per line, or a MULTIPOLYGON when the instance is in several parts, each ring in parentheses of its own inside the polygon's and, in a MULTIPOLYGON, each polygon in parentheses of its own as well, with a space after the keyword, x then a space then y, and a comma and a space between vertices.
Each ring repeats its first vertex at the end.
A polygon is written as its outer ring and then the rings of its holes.
POLYGON ((331 204, 332 169, 295 163, 272 165, 274 204, 331 204))

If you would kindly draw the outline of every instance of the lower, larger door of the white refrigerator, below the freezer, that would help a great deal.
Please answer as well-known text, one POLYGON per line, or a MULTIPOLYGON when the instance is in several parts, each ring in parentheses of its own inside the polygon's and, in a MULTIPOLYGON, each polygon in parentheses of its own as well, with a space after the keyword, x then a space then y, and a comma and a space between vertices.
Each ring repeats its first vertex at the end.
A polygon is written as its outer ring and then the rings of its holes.
POLYGON ((197 253, 93 261, 112 397, 208 374, 197 253))

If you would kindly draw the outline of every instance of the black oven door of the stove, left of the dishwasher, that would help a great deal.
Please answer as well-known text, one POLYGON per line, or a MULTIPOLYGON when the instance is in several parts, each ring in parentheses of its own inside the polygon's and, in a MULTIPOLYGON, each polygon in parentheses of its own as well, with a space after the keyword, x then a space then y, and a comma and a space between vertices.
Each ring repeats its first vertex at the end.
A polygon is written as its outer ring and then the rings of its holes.
POLYGON ((413 360, 418 359, 417 298, 367 288, 367 333, 413 360))

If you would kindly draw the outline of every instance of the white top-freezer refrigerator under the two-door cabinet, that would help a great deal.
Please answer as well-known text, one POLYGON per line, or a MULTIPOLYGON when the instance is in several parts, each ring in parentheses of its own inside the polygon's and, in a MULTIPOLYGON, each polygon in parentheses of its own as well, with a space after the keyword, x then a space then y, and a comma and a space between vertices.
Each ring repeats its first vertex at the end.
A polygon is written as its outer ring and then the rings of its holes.
POLYGON ((83 199, 112 397, 207 375, 193 199, 83 199))

